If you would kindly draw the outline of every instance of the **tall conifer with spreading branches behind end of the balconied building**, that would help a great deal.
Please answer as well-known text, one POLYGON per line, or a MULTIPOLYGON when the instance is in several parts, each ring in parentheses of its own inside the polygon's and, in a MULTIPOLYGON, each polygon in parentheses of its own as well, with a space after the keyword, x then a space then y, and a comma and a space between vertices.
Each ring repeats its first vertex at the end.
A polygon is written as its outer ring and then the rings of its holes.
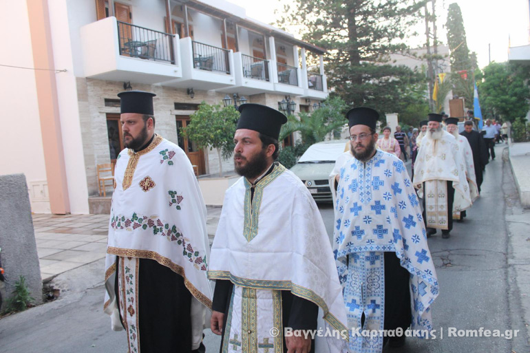
POLYGON ((304 40, 328 50, 328 86, 348 106, 395 112, 408 85, 423 78, 389 65, 388 54, 407 49, 404 40, 425 1, 295 0, 277 22, 301 28, 304 40))

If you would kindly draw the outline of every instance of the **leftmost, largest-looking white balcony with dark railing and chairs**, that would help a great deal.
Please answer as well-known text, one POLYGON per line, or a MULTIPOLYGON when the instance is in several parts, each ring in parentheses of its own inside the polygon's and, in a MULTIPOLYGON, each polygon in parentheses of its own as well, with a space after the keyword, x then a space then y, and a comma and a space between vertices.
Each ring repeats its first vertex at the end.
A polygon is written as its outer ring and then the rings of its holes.
POLYGON ((176 36, 107 17, 81 28, 84 76, 153 85, 180 78, 176 36))

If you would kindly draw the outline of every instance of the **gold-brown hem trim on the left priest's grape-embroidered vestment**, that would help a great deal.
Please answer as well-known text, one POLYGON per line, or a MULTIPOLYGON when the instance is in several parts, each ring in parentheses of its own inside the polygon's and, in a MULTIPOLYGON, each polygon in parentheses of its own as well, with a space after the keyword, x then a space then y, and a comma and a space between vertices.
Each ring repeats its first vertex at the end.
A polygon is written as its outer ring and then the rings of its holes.
POLYGON ((200 290, 195 288, 195 286, 191 284, 189 279, 187 279, 184 268, 182 268, 182 266, 178 264, 175 264, 173 261, 171 261, 171 259, 163 257, 162 255, 155 253, 151 250, 124 249, 115 248, 114 246, 107 247, 107 254, 118 255, 121 257, 138 257, 139 259, 151 259, 157 261, 158 264, 166 266, 167 268, 170 268, 173 272, 182 276, 182 278, 184 278, 184 285, 186 286, 186 288, 188 288, 189 292, 191 292, 191 295, 193 295, 195 299, 200 301, 202 304, 204 304, 204 306, 211 310, 211 299, 206 297, 206 295, 202 294, 200 290))

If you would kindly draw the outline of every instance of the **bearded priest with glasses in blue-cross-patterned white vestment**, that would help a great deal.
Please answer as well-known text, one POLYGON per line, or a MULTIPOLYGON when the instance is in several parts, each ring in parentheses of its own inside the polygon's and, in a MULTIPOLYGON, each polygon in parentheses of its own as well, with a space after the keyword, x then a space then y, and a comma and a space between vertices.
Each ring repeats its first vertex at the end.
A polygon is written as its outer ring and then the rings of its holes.
POLYGON ((350 352, 380 353, 404 336, 361 330, 432 330, 438 280, 416 192, 399 158, 375 148, 377 111, 348 111, 352 158, 337 175, 334 253, 344 288, 350 352))

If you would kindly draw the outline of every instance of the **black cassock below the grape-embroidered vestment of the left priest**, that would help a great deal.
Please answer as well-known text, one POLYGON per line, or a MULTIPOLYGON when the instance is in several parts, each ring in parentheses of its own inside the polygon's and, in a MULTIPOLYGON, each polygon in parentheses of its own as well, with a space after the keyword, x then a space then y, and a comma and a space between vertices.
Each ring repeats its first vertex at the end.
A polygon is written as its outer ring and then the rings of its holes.
MULTIPOLYGON (((119 257, 116 259, 116 265, 118 261, 119 257)), ((139 259, 139 261, 140 352, 204 352, 202 343, 198 350, 191 350, 191 293, 184 286, 184 278, 155 260, 139 259)), ((114 288, 116 298, 120 298, 117 275, 114 288)), ((118 307, 122 305, 123 303, 118 301, 118 307)))

